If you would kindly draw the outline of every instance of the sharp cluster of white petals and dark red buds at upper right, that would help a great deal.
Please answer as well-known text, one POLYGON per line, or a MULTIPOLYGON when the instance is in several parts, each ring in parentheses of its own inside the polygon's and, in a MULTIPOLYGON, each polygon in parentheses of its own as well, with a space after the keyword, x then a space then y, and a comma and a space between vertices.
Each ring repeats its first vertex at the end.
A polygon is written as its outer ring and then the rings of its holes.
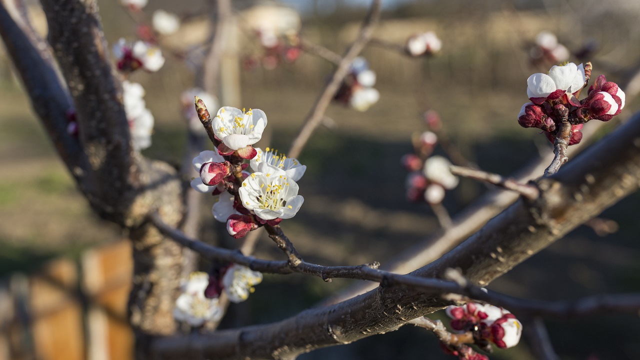
POLYGON ((591 63, 567 63, 552 67, 548 74, 533 74, 527 79, 527 96, 531 102, 522 105, 518 123, 522 127, 541 129, 550 142, 556 140, 563 121, 571 124, 569 145, 582 140, 582 126, 589 120, 609 121, 625 106, 625 93, 604 75, 589 86, 588 95, 578 100, 580 91, 591 74, 591 63))

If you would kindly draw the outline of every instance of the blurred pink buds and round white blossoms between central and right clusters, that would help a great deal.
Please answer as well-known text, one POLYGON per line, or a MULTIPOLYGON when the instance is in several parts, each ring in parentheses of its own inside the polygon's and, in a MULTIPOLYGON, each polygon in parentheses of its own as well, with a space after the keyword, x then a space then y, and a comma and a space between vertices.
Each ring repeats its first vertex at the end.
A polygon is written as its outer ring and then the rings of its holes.
MULTIPOLYGON (((429 128, 438 131, 440 119, 433 111, 425 114, 429 128)), ((458 177, 451 174, 451 162, 444 156, 433 155, 438 143, 438 135, 433 131, 424 131, 413 136, 412 154, 401 159, 404 167, 410 171, 406 177, 406 197, 413 202, 440 204, 446 190, 458 186, 458 177)))

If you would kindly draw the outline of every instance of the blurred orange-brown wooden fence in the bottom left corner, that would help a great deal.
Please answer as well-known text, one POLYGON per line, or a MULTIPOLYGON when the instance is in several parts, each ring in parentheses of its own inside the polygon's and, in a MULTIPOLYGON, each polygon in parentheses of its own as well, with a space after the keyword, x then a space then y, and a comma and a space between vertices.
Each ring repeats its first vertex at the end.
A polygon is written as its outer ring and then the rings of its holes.
POLYGON ((129 360, 131 243, 56 259, 0 283, 0 360, 129 360))

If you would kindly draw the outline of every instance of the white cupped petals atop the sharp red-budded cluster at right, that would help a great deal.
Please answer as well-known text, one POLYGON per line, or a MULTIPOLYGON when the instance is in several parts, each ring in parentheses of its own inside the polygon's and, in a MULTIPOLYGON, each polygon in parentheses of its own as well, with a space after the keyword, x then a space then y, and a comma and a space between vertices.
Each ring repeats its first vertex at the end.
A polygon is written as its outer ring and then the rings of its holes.
POLYGON ((527 79, 527 96, 548 97, 556 90, 563 90, 563 94, 573 94, 584 86, 586 78, 584 76, 584 66, 576 66, 575 63, 568 63, 563 66, 553 66, 548 74, 538 72, 527 79))

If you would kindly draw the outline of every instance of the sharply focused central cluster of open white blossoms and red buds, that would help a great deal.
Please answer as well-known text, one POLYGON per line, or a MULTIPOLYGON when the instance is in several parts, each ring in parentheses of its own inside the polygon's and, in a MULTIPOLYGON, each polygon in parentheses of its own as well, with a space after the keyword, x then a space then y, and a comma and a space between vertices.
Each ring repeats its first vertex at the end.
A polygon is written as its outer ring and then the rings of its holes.
POLYGON ((275 149, 263 151, 252 146, 262 137, 266 124, 262 110, 220 108, 212 121, 220 141, 217 151, 203 151, 193 159, 200 177, 193 179, 191 186, 198 192, 218 196, 213 216, 227 223, 227 231, 234 238, 242 238, 262 225, 277 225, 282 219, 294 217, 304 201, 298 195, 296 181, 307 167, 275 149), (234 183, 239 186, 234 188, 234 183))

